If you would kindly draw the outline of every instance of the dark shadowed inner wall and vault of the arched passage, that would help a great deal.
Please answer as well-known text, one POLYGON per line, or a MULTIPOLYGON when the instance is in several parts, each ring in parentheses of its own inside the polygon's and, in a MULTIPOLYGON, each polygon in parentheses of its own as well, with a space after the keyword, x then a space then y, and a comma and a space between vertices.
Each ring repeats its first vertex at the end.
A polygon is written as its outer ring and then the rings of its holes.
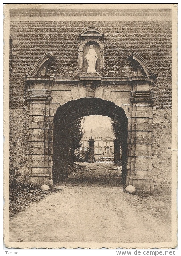
POLYGON ((124 134, 122 141, 122 181, 126 183, 128 119, 121 107, 113 102, 97 98, 69 101, 57 109, 53 122, 53 183, 68 177, 68 127, 74 120, 88 115, 108 116, 121 124, 124 134))

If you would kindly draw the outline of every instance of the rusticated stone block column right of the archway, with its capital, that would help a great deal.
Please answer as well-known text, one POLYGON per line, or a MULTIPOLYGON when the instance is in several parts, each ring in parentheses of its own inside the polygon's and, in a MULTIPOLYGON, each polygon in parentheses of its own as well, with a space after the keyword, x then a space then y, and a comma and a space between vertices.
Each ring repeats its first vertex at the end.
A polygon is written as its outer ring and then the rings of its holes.
POLYGON ((151 147, 153 119, 152 91, 131 93, 132 120, 128 136, 127 184, 139 190, 153 190, 151 147))

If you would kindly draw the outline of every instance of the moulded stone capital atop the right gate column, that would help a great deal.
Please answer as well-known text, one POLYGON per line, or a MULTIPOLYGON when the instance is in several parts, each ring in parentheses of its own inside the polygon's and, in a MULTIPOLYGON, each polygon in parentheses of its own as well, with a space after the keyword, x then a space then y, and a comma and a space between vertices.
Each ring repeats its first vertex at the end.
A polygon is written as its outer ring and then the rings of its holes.
POLYGON ((135 91, 131 92, 131 102, 150 102, 154 101, 154 92, 152 91, 135 91))

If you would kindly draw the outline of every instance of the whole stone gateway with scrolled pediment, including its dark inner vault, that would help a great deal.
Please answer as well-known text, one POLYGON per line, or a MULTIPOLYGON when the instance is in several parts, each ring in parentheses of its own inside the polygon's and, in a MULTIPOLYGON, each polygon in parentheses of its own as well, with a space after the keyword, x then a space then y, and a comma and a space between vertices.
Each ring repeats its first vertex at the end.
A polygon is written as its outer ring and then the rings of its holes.
POLYGON ((54 77, 46 73, 53 53, 44 54, 25 75, 30 102, 27 182, 53 184, 67 176, 67 127, 87 115, 120 122, 123 133, 123 180, 137 189, 153 190, 151 178, 153 81, 146 61, 129 52, 131 77, 79 73, 54 77))

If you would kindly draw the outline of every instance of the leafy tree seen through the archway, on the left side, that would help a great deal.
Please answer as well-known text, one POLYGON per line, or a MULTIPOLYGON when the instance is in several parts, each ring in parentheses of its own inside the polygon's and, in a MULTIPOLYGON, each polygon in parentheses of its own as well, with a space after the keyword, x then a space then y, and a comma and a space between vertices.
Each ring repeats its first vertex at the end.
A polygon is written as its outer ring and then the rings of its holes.
POLYGON ((84 126, 83 123, 85 122, 85 117, 81 117, 76 119, 68 130, 68 144, 69 144, 69 162, 74 163, 74 151, 75 149, 79 148, 80 141, 84 134, 84 126))

